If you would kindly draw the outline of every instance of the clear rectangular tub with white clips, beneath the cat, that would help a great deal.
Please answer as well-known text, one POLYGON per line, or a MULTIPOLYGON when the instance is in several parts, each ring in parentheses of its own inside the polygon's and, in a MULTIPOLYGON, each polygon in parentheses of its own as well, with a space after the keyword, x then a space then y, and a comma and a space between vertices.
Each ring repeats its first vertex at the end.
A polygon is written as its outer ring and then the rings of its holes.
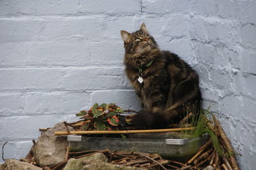
POLYGON ((189 138, 180 132, 130 134, 129 138, 99 138, 68 135, 70 150, 104 150, 158 153, 165 159, 184 162, 209 138, 189 138), (185 137, 185 138, 184 138, 185 137))

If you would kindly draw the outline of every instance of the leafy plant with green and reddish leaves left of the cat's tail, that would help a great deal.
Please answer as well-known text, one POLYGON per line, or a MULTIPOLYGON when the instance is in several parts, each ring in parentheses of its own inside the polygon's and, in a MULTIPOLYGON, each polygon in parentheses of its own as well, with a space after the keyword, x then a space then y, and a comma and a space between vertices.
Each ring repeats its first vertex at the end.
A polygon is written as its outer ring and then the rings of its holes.
POLYGON ((120 129, 120 118, 123 117, 120 115, 121 113, 124 113, 124 110, 116 106, 115 103, 100 105, 95 103, 90 110, 79 111, 76 116, 84 119, 84 123, 81 125, 82 131, 112 131, 120 129))

